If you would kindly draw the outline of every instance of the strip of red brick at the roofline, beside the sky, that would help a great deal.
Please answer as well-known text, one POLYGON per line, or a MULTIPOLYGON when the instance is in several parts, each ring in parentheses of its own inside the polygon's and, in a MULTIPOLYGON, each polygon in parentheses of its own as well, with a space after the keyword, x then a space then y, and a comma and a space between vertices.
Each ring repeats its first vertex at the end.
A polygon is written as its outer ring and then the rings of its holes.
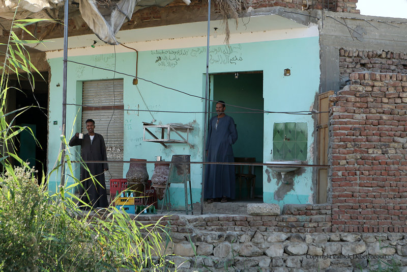
MULTIPOLYGON (((328 9, 330 11, 337 12, 351 12, 351 13, 360 13, 356 9, 356 3, 358 0, 308 0, 309 8, 308 9, 328 9), (329 5, 327 3, 330 3, 329 5)), ((247 0, 247 5, 252 6, 253 8, 266 8, 266 7, 284 7, 290 9, 299 9, 307 6, 306 0, 247 0)))

